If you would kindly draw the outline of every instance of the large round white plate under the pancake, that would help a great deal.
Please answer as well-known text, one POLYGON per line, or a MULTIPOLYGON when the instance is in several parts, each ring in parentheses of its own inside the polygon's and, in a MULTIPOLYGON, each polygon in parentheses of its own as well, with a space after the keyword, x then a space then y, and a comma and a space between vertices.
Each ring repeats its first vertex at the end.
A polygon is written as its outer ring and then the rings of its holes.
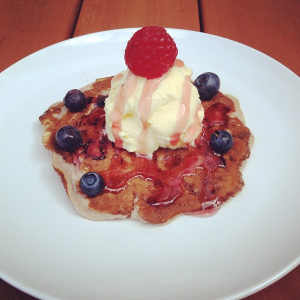
POLYGON ((178 58, 216 72, 255 135, 245 187, 212 217, 166 226, 78 215, 38 116, 67 90, 125 68, 135 29, 54 44, 0 74, 0 277, 45 299, 237 299, 300 262, 299 77, 234 41, 169 29, 178 58))

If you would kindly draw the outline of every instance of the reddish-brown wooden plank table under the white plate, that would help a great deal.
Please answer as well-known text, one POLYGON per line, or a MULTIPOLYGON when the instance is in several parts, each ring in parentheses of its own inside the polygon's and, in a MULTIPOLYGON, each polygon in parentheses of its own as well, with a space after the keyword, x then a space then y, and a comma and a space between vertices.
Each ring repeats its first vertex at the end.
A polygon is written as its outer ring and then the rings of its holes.
MULTIPOLYGON (((299 0, 0 0, 0 71, 74 36, 149 24, 230 38, 300 75, 299 0)), ((0 299, 34 297, 0 280, 0 299)), ((300 299, 300 266, 244 299, 300 299)))

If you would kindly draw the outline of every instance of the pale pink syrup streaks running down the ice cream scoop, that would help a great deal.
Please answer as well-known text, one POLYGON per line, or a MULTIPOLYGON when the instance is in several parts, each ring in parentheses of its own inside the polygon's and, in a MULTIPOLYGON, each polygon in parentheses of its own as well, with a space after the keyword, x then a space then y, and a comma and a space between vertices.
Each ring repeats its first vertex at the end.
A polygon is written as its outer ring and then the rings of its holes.
MULTIPOLYGON (((180 59, 176 59, 174 65, 176 67, 184 67, 184 62, 180 59)), ((113 85, 116 81, 120 80, 122 76, 122 73, 115 75, 111 80, 111 84, 113 85)), ((151 98, 159 84, 166 78, 166 76, 167 73, 165 73, 162 77, 145 80, 142 87, 142 92, 138 101, 138 113, 142 124, 142 130, 138 136, 138 149, 136 150, 137 153, 142 155, 147 155, 146 140, 149 126, 148 117, 151 112, 152 104, 151 98)), ((132 96, 136 86, 137 76, 129 71, 124 84, 122 84, 116 92, 115 102, 110 112, 110 119, 112 122, 111 130, 115 145, 119 148, 122 148, 123 146, 119 133, 122 130, 121 120, 122 116, 124 115, 125 103, 132 96)), ((197 109, 194 115, 193 124, 186 128, 186 124, 190 115, 191 86, 190 77, 186 76, 182 84, 181 102, 176 117, 177 123, 173 128, 173 133, 170 135, 170 144, 172 146, 178 144, 180 135, 184 131, 188 132, 185 137, 185 143, 190 144, 193 142, 196 133, 200 132, 202 128, 202 123, 198 116, 198 112, 203 110, 200 101, 196 107, 197 109)))

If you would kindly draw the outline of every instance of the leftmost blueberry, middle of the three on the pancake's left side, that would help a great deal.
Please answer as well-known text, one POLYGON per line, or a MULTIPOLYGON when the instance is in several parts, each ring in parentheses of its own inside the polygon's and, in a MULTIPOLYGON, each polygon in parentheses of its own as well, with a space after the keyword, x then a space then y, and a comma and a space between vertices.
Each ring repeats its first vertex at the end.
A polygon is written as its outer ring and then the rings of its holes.
POLYGON ((66 125, 58 129, 55 138, 58 145, 66 151, 74 151, 82 143, 80 131, 70 125, 66 125))

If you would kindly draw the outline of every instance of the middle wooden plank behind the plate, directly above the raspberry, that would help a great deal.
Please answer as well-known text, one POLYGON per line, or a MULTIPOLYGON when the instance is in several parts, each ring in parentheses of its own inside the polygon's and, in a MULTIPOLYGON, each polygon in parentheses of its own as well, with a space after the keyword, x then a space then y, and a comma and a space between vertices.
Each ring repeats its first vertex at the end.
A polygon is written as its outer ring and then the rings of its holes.
POLYGON ((146 25, 199 31, 197 0, 83 0, 74 36, 146 25))

